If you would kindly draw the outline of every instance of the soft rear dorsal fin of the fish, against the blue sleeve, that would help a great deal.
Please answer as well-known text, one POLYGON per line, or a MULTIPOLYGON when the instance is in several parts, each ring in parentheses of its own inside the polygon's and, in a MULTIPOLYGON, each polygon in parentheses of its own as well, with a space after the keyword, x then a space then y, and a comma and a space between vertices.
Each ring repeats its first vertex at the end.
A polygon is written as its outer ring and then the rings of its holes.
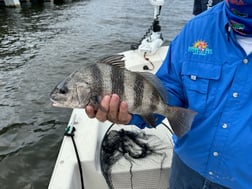
POLYGON ((153 85, 165 103, 168 102, 168 92, 158 77, 150 72, 137 72, 142 75, 151 85, 153 85))

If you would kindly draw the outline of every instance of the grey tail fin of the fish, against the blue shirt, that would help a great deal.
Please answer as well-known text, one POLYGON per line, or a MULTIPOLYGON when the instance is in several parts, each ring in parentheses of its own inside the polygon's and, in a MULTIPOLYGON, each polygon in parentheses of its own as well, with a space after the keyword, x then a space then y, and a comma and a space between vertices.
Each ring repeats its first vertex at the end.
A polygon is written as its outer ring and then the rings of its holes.
POLYGON ((180 107, 167 107, 167 118, 172 130, 178 137, 185 135, 192 126, 197 112, 180 107))

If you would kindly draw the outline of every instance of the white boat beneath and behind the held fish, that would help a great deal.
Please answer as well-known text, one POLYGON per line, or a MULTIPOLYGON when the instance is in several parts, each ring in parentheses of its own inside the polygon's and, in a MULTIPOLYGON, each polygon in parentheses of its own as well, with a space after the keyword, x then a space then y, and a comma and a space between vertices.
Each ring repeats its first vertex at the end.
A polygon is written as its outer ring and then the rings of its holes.
MULTIPOLYGON (((163 0, 151 0, 154 6, 155 24, 158 24, 160 7, 163 3, 163 0)), ((142 40, 137 49, 120 54, 124 55, 127 69, 155 73, 163 62, 167 49, 168 46, 163 46, 161 31, 151 30, 150 35, 142 40)), ((132 148, 139 150, 137 146, 132 148)), ((141 130, 134 125, 113 125, 109 121, 102 123, 96 119, 89 119, 83 109, 74 109, 48 188, 166 189, 172 149, 172 131, 167 119, 156 128, 141 130), (104 175, 101 161, 104 138, 111 131, 119 132, 122 129, 152 136, 144 142, 152 146, 155 152, 146 158, 132 160, 129 160, 127 154, 121 155, 109 168, 108 177, 108 174, 104 175)))

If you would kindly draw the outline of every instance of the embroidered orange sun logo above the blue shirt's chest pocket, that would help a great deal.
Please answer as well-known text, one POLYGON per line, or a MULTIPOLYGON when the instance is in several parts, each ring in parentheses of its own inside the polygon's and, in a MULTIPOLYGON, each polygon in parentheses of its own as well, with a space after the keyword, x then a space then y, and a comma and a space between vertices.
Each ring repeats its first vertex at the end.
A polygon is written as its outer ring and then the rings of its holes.
POLYGON ((195 55, 209 55, 213 53, 213 50, 208 48, 207 42, 199 40, 193 46, 188 47, 188 52, 195 55))

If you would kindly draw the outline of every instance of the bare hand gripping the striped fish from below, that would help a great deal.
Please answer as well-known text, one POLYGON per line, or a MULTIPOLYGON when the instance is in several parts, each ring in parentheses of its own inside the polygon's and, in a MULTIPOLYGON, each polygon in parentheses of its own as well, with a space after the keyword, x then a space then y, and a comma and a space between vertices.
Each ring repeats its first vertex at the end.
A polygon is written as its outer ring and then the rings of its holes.
POLYGON ((88 105, 85 111, 89 118, 96 118, 102 122, 109 120, 113 123, 128 124, 132 117, 128 112, 128 104, 121 102, 117 94, 104 96, 98 110, 88 105))

